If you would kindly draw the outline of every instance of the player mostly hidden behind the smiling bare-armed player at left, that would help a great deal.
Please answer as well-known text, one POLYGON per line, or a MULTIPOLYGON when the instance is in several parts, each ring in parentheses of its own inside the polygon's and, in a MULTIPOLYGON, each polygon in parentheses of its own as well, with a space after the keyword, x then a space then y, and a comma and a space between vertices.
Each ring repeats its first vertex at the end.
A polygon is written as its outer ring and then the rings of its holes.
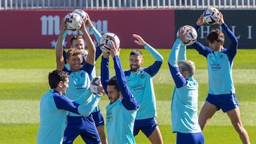
MULTIPOLYGON (((95 38, 97 39, 97 41, 99 41, 102 35, 100 35, 100 33, 97 31, 97 29, 92 25, 92 22, 90 21, 90 17, 88 14, 87 14, 87 22, 85 23, 85 26, 87 26, 87 28, 90 28, 92 33, 95 35, 95 38)), ((65 33, 66 32, 67 31, 65 31, 65 33)), ((63 40, 65 40, 65 34, 63 36, 63 40)), ((87 52, 87 50, 85 50, 85 42, 84 42, 84 38, 82 37, 82 35, 74 35, 70 39, 70 48, 77 48, 78 50, 82 51, 81 64, 82 65, 85 64, 85 59, 86 59, 88 52, 87 52)), ((97 46, 95 60, 97 60, 97 58, 100 57, 101 53, 102 53, 102 51, 100 50, 100 47, 97 46)), ((65 67, 68 70, 70 70, 70 66, 66 63, 67 58, 66 58, 65 50, 63 50, 63 57, 64 57, 64 61, 65 61, 65 67)), ((95 67, 92 70, 92 77, 96 77, 95 67)), ((104 121, 104 118, 102 116, 99 106, 97 106, 95 108, 95 110, 92 111, 92 118, 95 121, 95 126, 97 128, 97 132, 100 135, 102 144, 107 144, 107 138, 106 138, 105 130, 104 130, 105 129, 105 127, 104 127, 105 121, 104 121)), ((72 123, 70 123, 70 125, 72 125, 72 123)))

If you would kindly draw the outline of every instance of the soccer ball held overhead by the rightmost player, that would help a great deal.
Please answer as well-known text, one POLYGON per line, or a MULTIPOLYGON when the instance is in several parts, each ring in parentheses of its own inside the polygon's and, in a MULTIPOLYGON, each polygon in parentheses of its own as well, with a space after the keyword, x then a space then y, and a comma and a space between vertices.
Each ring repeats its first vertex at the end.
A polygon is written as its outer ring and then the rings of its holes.
POLYGON ((216 8, 208 8, 203 12, 203 19, 206 23, 214 25, 218 22, 219 11, 216 8))

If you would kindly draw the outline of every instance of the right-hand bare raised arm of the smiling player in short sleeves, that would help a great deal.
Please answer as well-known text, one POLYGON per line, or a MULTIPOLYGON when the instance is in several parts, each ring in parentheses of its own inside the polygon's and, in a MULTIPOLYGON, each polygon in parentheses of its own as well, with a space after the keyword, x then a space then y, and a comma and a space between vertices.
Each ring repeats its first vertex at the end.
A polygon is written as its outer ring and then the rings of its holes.
POLYGON ((92 41, 92 38, 90 38, 90 35, 85 28, 85 23, 82 23, 82 27, 80 28, 80 31, 82 31, 82 33, 84 35, 85 43, 87 45, 87 50, 88 50, 88 55, 86 56, 85 61, 87 63, 89 63, 90 65, 95 65, 96 48, 92 41))

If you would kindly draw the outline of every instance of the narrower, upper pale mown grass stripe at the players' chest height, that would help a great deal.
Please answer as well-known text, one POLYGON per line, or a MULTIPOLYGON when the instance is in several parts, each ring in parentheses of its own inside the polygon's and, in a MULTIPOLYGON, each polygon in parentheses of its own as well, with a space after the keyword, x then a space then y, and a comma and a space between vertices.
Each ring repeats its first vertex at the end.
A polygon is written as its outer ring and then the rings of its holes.
MULTIPOLYGON (((43 83, 48 82, 48 69, 0 69, 0 83, 43 83)), ((100 70, 98 70, 100 72, 100 70)), ((256 77, 248 77, 256 75, 253 69, 235 69, 233 70, 233 80, 235 83, 256 84, 256 77), (242 80, 241 80, 242 79, 242 80)), ((208 82, 208 73, 206 69, 196 70, 195 79, 200 84, 208 82)), ((154 77, 156 83, 172 82, 169 70, 161 70, 154 77)))

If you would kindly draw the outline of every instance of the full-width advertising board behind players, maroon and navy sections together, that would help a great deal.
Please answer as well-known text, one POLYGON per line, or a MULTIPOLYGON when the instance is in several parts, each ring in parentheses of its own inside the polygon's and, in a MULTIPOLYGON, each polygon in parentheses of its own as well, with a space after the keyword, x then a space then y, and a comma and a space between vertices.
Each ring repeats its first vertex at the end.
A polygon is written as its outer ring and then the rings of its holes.
MULTIPOLYGON (((0 48, 54 48, 60 33, 60 21, 70 10, 0 11, 0 48)), ((88 10, 93 25, 103 34, 115 33, 121 48, 142 48, 134 44, 132 33, 142 35, 154 48, 171 48, 176 31, 183 25, 195 26, 203 11, 190 10, 88 10)), ((239 40, 238 48, 255 48, 256 22, 250 16, 256 11, 221 11, 225 23, 239 40)), ((206 44, 206 35, 212 28, 220 26, 204 25, 198 31, 198 40, 206 44)), ((92 32, 92 39, 97 43, 92 32)), ((70 47, 70 38, 82 34, 69 31, 65 48, 70 47)), ((225 38, 225 47, 229 39, 225 38)))

